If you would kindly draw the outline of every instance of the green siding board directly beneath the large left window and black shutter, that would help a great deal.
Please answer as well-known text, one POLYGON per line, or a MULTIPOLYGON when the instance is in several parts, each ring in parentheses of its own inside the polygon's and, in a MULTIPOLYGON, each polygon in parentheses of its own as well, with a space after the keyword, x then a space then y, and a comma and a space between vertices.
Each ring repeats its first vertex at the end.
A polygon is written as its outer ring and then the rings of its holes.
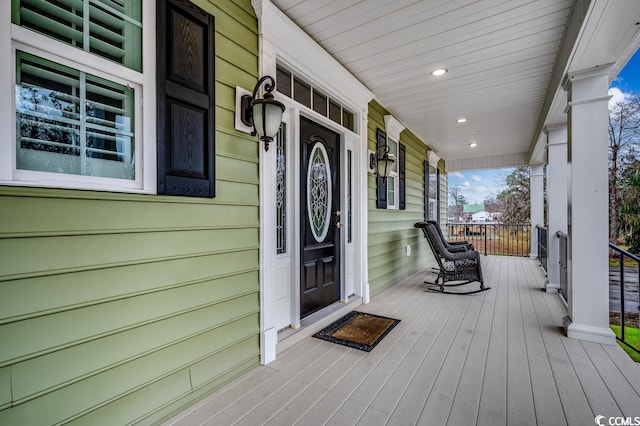
MULTIPOLYGON (((217 186, 218 192, 227 200, 236 198, 232 195, 234 191, 253 194, 253 198, 233 204, 229 201, 218 204, 216 197, 216 203, 213 204, 207 199, 190 200, 182 197, 168 199, 84 191, 2 188, 0 238, 198 230, 214 226, 257 227, 260 220, 257 185, 218 182, 217 186), (82 196, 87 198, 79 198, 82 196), (132 209, 137 213, 131 214, 132 209)), ((0 268, 0 275, 7 275, 3 268, 0 268)))

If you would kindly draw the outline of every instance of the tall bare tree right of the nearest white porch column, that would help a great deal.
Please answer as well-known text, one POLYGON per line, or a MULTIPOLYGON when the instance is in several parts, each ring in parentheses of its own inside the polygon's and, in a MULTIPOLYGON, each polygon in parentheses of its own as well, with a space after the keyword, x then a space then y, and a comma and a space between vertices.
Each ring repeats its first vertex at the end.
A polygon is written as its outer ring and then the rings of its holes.
POLYGON ((609 107, 609 241, 618 243, 621 214, 620 180, 635 159, 640 141, 640 95, 625 97, 609 107))

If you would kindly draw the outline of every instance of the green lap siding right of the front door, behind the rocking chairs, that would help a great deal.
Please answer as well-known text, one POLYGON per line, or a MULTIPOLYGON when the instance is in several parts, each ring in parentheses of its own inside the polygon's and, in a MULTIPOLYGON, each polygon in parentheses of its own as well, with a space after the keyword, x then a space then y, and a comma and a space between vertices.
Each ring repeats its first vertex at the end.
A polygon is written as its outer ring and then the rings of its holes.
MULTIPOLYGON (((377 102, 369 104, 368 145, 375 151, 376 129, 384 129, 388 112, 377 102)), ((434 262, 433 255, 415 222, 424 220, 424 166, 427 146, 409 130, 400 134, 406 146, 406 210, 376 208, 376 178, 368 177, 369 284, 375 296, 417 269, 434 262), (406 247, 411 246, 411 256, 406 247)))

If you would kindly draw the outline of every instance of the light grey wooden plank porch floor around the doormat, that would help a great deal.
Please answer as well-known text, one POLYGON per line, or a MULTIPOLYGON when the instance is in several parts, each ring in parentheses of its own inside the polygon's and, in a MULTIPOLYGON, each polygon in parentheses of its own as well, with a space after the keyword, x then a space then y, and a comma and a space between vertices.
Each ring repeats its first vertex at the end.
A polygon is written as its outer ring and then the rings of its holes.
POLYGON ((428 271, 417 273, 358 308, 401 320, 371 352, 307 337, 169 424, 583 426, 640 416, 640 365, 618 346, 566 338, 565 308, 542 290, 536 261, 482 262, 491 290, 426 292, 428 271))

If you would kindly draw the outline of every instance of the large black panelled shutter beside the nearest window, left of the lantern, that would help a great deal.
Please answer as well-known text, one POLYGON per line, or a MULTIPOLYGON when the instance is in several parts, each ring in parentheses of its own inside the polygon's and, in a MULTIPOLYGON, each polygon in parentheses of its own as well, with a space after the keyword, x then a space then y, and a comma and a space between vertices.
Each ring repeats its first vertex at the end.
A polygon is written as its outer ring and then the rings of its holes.
POLYGON ((158 2, 158 194, 215 196, 213 19, 188 0, 158 2))

